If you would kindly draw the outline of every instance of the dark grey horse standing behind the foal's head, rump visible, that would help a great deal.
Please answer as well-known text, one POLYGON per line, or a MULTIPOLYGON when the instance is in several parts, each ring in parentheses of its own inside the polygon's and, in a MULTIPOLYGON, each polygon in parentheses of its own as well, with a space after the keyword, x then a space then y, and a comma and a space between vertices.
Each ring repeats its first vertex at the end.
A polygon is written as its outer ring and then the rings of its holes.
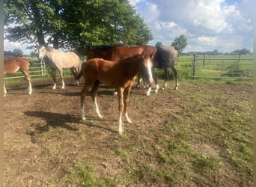
MULTIPOLYGON (((155 68, 163 68, 165 71, 165 82, 162 86, 162 89, 166 88, 168 79, 170 79, 170 72, 168 68, 171 67, 171 70, 174 73, 175 82, 176 82, 174 90, 177 90, 179 85, 177 70, 175 68, 175 64, 179 54, 177 46, 157 46, 156 49, 157 49, 156 55, 155 55, 155 58, 153 59, 155 68)), ((157 80, 157 76, 154 68, 153 68, 152 74, 156 82, 156 90, 157 90, 158 80, 157 80)), ((138 79, 137 85, 139 85, 139 79, 138 79)), ((145 85, 145 82, 144 82, 144 85, 145 85)), ((150 88, 151 88, 151 85, 149 86, 149 90, 150 88)))

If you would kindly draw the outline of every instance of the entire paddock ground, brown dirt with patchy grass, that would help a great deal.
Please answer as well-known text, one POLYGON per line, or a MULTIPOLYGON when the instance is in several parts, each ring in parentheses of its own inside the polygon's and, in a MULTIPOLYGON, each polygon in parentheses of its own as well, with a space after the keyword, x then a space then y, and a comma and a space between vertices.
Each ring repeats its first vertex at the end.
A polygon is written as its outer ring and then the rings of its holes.
POLYGON ((10 91, 4 98, 4 183, 252 186, 252 83, 186 81, 178 91, 171 84, 147 97, 132 89, 132 124, 124 122, 121 136, 113 88, 99 90, 103 119, 86 98, 86 121, 79 119, 82 87, 36 87, 29 99, 10 91))

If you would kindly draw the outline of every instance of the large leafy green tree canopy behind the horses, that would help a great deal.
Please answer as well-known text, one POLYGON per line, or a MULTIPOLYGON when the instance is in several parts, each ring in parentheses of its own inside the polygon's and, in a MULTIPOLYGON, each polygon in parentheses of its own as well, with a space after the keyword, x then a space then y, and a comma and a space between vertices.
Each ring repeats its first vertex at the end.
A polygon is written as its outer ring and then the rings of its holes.
POLYGON ((128 0, 5 0, 4 25, 10 41, 80 54, 103 43, 144 45, 153 39, 128 0))

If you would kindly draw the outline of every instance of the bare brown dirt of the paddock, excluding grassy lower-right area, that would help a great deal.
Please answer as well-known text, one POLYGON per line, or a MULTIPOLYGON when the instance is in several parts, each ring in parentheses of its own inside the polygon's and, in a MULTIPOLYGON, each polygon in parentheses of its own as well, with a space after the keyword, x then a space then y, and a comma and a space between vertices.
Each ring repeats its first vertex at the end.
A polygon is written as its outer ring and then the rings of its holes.
MULTIPOLYGON (((192 101, 195 93, 214 92, 216 95, 228 94, 234 100, 252 100, 250 84, 180 82, 180 89, 174 91, 174 82, 171 82, 168 89, 150 96, 144 96, 145 91, 141 89, 132 88, 129 104, 132 124, 124 122, 125 138, 122 139, 118 135, 118 99, 112 94, 113 88, 102 85, 98 91, 98 105, 103 119, 97 117, 91 96, 87 96, 87 120, 82 121, 79 118, 79 92, 82 85, 73 86, 73 79, 66 79, 65 90, 61 90, 60 85, 56 90, 52 90, 51 83, 51 79, 33 82, 31 96, 25 94, 25 83, 19 89, 13 89, 13 83, 6 84, 8 93, 4 97, 5 186, 67 186, 67 181, 70 181, 68 174, 72 176, 73 168, 85 162, 93 165, 98 177, 106 175, 115 178, 123 171, 124 165, 121 157, 115 156, 113 152, 121 148, 124 150, 124 141, 128 141, 131 147, 142 147, 141 149, 158 144, 155 142, 159 137, 158 133, 165 131, 163 123, 173 117, 181 119, 195 113, 197 104, 192 101), (143 144, 146 140, 151 145, 143 144)), ((210 105, 218 102, 214 97, 209 99, 213 102, 210 105)), ((222 102, 221 105, 225 103, 222 102)), ((125 146, 128 147, 127 144, 125 146)), ((195 149, 199 148, 200 146, 195 149)), ((206 154, 212 156, 218 155, 220 151, 207 145, 201 145, 200 149, 207 150, 206 154)), ((138 153, 138 150, 135 153, 138 153)), ((144 156, 144 159, 145 162, 150 162, 148 156, 144 156)), ((153 162, 151 164, 153 165, 153 162)), ((216 174, 216 184, 252 185, 252 179, 246 181, 228 169, 222 171, 228 172, 222 177, 216 174)), ((139 183, 129 183, 129 186, 157 184, 147 180, 147 177, 143 179, 139 183)), ((117 178, 115 180, 118 181, 117 178)), ((165 183, 159 185, 168 186, 165 183)), ((204 186, 195 180, 187 180, 180 185, 204 186)))

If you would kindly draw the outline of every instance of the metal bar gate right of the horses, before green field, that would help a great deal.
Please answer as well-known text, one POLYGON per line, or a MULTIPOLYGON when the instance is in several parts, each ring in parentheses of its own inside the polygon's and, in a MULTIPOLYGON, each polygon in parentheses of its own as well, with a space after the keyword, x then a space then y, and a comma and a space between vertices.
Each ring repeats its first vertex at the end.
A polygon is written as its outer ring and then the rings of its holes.
POLYGON ((196 56, 192 60, 192 78, 252 79, 252 55, 196 56))

